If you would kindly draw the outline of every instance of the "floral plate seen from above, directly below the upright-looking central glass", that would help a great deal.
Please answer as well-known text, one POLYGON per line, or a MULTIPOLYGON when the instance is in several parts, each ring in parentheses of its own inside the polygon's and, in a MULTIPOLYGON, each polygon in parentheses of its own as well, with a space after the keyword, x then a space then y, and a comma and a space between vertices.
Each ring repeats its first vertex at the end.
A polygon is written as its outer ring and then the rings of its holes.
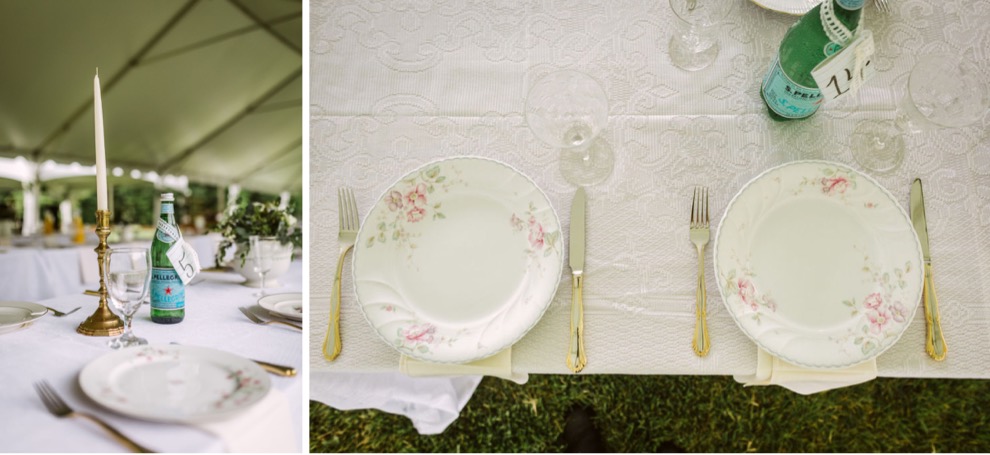
POLYGON ((474 157, 432 162, 378 199, 358 233, 354 288, 402 354, 462 363, 522 338, 557 290, 560 221, 532 180, 474 157))

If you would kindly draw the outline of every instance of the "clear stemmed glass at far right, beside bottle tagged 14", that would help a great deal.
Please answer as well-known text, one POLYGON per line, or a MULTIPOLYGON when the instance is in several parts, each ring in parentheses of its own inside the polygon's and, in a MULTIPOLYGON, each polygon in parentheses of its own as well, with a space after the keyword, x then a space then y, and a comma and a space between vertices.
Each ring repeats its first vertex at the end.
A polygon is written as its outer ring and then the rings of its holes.
POLYGON ((988 107, 987 80, 975 65, 950 55, 923 57, 911 69, 896 118, 856 125, 851 137, 853 158, 873 172, 893 171, 904 161, 906 138, 931 129, 970 125, 988 107))

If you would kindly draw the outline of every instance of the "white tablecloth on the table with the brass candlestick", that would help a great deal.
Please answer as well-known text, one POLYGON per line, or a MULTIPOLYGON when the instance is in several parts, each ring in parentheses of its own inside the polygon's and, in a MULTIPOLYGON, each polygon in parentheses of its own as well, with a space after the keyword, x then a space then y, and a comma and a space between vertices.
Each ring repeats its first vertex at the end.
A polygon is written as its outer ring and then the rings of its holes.
MULTIPOLYGON (((134 332, 153 344, 204 346, 242 357, 290 365, 302 371, 301 334, 275 325, 255 325, 237 310, 252 306, 255 288, 242 286, 243 277, 211 274, 186 288, 186 318, 176 325, 151 322, 147 306, 134 319, 134 332)), ((271 292, 299 292, 302 263, 294 261, 271 292)), ((87 398, 78 385, 79 371, 90 361, 111 352, 107 337, 87 337, 76 327, 97 306, 97 298, 80 294, 40 302, 60 310, 83 308, 69 316, 46 315, 26 329, 0 335, 0 451, 4 452, 120 452, 124 448, 93 424, 80 419, 56 419, 42 406, 32 384, 48 380, 78 410, 105 418, 146 447, 163 452, 222 452, 219 438, 200 429, 176 424, 144 422, 108 411, 87 398)), ((289 403, 293 440, 303 439, 302 375, 271 376, 272 385, 289 403)), ((299 446, 302 447, 302 446, 299 446)))

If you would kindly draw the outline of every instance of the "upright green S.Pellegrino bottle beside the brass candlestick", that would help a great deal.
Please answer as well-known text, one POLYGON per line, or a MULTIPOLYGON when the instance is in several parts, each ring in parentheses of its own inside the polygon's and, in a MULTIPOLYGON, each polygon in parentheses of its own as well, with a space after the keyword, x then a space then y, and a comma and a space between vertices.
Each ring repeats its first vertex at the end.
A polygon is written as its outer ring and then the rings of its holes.
POLYGON ((172 193, 164 193, 158 229, 151 241, 151 320, 159 324, 176 324, 186 316, 186 286, 166 255, 181 238, 175 224, 175 199, 172 193))

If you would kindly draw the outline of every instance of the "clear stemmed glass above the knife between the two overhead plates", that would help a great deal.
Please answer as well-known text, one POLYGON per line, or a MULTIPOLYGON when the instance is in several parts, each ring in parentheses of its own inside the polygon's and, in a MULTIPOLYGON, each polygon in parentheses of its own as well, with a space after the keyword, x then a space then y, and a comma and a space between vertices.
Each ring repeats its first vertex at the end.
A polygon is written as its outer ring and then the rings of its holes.
POLYGON ((543 142, 560 149, 560 172, 578 186, 612 175, 615 156, 601 138, 608 96, 587 74, 562 70, 538 79, 526 95, 526 123, 543 142))

